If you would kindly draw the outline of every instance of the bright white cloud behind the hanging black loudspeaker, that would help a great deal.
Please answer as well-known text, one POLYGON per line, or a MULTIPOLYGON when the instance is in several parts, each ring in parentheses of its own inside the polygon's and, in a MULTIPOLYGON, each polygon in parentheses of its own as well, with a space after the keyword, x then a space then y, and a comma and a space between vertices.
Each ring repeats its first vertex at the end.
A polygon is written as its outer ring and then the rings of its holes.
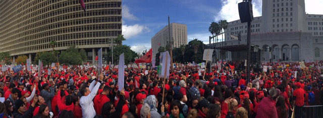
MULTIPOLYGON (((222 8, 220 12, 214 16, 214 21, 227 20, 228 22, 239 20, 238 3, 241 0, 221 0, 222 8)), ((253 17, 261 16, 262 0, 253 0, 253 17)))

